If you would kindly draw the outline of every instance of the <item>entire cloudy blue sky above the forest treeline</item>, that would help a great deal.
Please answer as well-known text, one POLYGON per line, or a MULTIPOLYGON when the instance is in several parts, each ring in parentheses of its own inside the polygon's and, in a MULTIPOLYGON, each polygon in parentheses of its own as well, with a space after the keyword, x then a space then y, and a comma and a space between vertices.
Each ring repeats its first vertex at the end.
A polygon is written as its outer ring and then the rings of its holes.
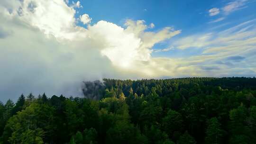
POLYGON ((0 0, 0 101, 82 81, 256 76, 256 0, 0 0))

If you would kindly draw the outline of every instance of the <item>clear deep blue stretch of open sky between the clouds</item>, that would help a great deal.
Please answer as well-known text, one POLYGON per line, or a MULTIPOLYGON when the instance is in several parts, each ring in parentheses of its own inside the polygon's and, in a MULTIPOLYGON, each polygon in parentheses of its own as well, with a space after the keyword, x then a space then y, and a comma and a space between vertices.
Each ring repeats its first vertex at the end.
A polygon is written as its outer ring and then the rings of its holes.
MULTIPOLYGON (((87 13, 92 18, 91 24, 106 20, 123 26, 126 19, 143 19, 147 25, 155 24, 151 31, 159 31, 163 27, 182 30, 181 34, 169 41, 156 44, 153 49, 164 49, 184 36, 218 32, 256 18, 255 0, 81 0, 80 2, 82 8, 77 9, 76 17, 87 13), (223 8, 236 1, 240 2, 237 8, 225 13, 223 8), (212 8, 219 9, 219 13, 210 16, 209 10, 212 8), (223 20, 212 22, 219 18, 223 20)), ((69 1, 69 4, 72 4, 72 1, 69 1)), ((81 23, 79 25, 82 26, 81 23)), ((172 52, 152 53, 152 56, 187 57, 201 53, 202 49, 197 47, 192 51, 174 48, 172 52)))

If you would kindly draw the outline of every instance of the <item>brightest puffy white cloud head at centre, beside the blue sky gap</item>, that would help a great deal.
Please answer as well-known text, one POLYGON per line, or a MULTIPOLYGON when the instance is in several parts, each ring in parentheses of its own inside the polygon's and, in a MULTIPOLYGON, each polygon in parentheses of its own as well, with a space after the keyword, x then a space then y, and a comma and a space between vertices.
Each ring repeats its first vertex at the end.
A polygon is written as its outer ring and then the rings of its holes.
POLYGON ((100 21, 97 25, 89 27, 96 31, 101 30, 99 34, 105 34, 107 48, 102 50, 102 54, 108 56, 113 64, 124 68, 129 68, 137 61, 148 61, 151 58, 151 48, 172 36, 180 33, 166 27, 163 30, 155 32, 145 32, 147 26, 143 20, 127 20, 124 29, 115 24, 100 21), (100 28, 101 27, 101 28, 100 28))

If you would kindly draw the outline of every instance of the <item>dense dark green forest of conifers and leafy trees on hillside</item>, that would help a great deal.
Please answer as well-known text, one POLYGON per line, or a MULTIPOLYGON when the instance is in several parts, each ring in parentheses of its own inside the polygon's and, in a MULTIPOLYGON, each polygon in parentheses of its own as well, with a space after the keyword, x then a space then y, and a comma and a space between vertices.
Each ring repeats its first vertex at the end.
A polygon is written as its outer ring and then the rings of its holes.
POLYGON ((98 83, 0 102, 0 144, 256 144, 255 77, 98 83))

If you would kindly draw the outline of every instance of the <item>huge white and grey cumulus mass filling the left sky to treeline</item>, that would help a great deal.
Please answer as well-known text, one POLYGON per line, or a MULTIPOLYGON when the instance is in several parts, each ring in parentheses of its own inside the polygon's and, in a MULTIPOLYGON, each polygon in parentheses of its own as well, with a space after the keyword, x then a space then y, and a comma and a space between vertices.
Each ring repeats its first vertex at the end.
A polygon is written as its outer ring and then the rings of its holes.
POLYGON ((146 32, 143 20, 79 27, 74 8, 64 0, 0 1, 1 100, 29 92, 79 96, 82 81, 158 76, 152 46, 180 33, 146 32))

